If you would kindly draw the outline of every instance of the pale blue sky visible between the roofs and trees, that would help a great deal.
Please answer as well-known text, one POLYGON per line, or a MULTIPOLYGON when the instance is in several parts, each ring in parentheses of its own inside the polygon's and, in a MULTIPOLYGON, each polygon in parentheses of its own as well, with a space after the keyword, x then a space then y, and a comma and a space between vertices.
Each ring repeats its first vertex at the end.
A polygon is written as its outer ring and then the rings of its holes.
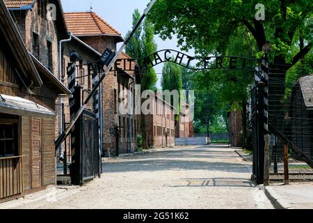
MULTIPOLYGON (((61 0, 63 4, 63 10, 65 12, 80 12, 89 11, 90 6, 93 6, 93 11, 102 17, 111 26, 117 29, 124 37, 127 31, 131 29, 132 26, 132 14, 134 10, 138 10, 143 13, 147 4, 150 0, 61 0)), ((154 38, 157 43, 158 49, 176 49, 177 38, 175 36, 172 40, 161 40, 158 36, 154 38)), ((120 47, 120 45, 118 45, 120 47)), ((194 56, 193 50, 186 52, 190 56, 194 56)), ((159 66, 154 67, 157 72, 159 81, 157 87, 161 88, 161 72, 163 68, 163 63, 159 66)))

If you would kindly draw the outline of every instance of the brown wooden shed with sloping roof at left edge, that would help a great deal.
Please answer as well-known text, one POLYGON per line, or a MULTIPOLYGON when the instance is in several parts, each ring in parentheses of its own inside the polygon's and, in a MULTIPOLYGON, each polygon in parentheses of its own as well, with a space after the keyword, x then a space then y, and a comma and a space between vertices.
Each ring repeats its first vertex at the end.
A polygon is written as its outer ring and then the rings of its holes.
POLYGON ((56 98, 69 93, 27 52, 0 1, 0 203, 56 184, 56 98))

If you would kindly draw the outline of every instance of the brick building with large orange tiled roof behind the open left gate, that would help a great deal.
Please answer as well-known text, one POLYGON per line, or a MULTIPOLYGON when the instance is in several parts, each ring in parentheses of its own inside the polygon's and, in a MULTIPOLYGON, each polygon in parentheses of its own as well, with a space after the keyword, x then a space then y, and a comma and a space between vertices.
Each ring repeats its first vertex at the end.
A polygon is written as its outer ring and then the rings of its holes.
MULTIPOLYGON (((65 13, 65 20, 69 31, 99 54, 106 48, 116 51, 117 43, 124 41, 117 30, 92 11, 65 13)), ((109 72, 102 84, 102 151, 107 156, 134 151, 137 146, 136 116, 120 114, 119 111, 121 102, 128 105, 129 99, 134 99, 134 72, 124 69, 132 66, 134 70, 135 64, 129 59, 126 54, 121 54, 115 69, 109 72), (126 93, 126 90, 131 93, 126 93), (118 150, 116 129, 120 133, 118 150)))

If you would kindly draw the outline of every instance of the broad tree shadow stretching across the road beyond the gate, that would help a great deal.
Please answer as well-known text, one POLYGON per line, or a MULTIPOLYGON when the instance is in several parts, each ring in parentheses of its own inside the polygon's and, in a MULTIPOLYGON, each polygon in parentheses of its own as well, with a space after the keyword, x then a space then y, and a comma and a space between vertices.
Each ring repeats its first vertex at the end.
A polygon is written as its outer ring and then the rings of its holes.
POLYGON ((234 162, 236 153, 230 153, 228 146, 200 146, 179 150, 166 150, 123 157, 104 162, 104 172, 163 171, 163 170, 207 170, 248 173, 250 167, 242 162, 234 162), (225 148, 225 151, 223 151, 225 148), (122 164, 121 164, 122 162, 122 164))

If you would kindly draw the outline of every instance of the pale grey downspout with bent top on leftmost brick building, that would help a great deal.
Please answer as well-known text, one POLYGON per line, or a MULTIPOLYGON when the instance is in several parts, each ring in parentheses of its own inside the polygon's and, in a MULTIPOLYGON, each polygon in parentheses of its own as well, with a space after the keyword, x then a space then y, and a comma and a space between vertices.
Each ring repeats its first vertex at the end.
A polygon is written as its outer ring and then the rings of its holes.
MULTIPOLYGON (((72 40, 72 33, 67 33, 70 38, 65 40, 60 40, 58 43, 58 80, 62 82, 62 43, 67 43, 72 40)), ((65 64, 64 64, 65 66, 65 64)), ((61 135, 63 133, 63 121, 62 121, 62 98, 58 98, 59 109, 58 109, 58 132, 61 135)), ((63 159, 63 146, 62 144, 58 150, 58 156, 63 159)))

